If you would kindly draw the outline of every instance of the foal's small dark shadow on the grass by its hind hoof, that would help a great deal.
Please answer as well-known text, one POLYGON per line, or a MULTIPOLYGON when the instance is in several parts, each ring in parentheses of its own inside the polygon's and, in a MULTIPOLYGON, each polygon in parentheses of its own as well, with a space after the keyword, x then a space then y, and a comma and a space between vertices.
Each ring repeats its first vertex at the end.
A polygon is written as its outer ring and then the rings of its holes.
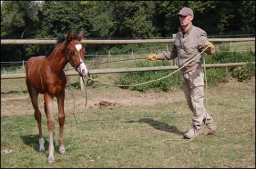
MULTIPOLYGON (((32 147, 33 149, 35 149, 35 151, 39 152, 39 141, 38 141, 39 135, 24 135, 24 136, 20 136, 20 138, 24 143, 26 143, 26 145, 28 145, 29 147, 32 147)), ((46 139, 45 139, 44 147, 45 147, 45 151, 47 150, 47 147, 49 147, 49 142, 46 139)))

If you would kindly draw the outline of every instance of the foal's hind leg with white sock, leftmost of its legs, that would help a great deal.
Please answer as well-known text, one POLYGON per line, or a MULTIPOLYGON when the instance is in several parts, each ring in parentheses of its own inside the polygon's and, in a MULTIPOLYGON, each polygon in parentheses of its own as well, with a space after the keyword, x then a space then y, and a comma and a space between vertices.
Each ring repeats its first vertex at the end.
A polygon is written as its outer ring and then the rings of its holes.
POLYGON ((31 98, 31 101, 32 101, 32 105, 35 109, 35 113, 34 113, 34 116, 35 116, 35 119, 37 121, 37 124, 38 124, 38 131, 39 131, 39 152, 44 152, 45 151, 45 147, 44 147, 44 137, 43 137, 43 134, 42 134, 42 124, 41 124, 41 121, 42 121, 42 114, 38 108, 38 92, 35 91, 35 89, 33 88, 29 88, 28 89, 29 91, 29 96, 31 98))

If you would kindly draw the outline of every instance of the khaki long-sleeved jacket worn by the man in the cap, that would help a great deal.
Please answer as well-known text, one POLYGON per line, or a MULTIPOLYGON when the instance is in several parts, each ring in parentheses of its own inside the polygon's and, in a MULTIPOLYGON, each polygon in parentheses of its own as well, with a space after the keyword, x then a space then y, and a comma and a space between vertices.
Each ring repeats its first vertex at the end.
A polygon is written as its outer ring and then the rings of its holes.
MULTIPOLYGON (((182 68, 182 73, 202 68, 202 57, 204 53, 195 59, 193 58, 204 50, 204 45, 207 42, 209 42, 207 34, 199 27, 192 26, 185 34, 182 33, 182 28, 180 27, 179 32, 176 34, 176 38, 173 41, 171 51, 157 54, 157 59, 170 60, 177 57, 179 68, 189 62, 187 66, 182 68), (193 61, 191 61, 191 59, 193 59, 193 61)), ((213 54, 214 52, 215 49, 213 47, 207 54, 213 54)))

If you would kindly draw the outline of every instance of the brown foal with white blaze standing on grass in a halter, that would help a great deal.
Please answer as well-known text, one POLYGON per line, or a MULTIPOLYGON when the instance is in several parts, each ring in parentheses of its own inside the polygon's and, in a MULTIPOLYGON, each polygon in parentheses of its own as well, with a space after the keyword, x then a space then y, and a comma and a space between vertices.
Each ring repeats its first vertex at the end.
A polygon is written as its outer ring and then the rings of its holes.
POLYGON ((38 94, 44 94, 44 110, 49 131, 49 156, 47 158, 49 165, 54 163, 55 121, 52 113, 54 97, 57 98, 58 122, 60 124, 59 152, 60 154, 66 154, 64 146, 64 99, 67 78, 63 68, 70 62, 80 76, 85 77, 88 75, 88 69, 84 62, 85 48, 81 43, 83 36, 83 31, 80 31, 76 37, 74 37, 72 31, 69 31, 67 38, 60 44, 57 44, 48 57, 45 55, 33 56, 28 59, 26 64, 26 85, 33 108, 35 109, 34 115, 38 124, 39 152, 45 151, 45 140, 42 135, 42 114, 38 108, 38 94))

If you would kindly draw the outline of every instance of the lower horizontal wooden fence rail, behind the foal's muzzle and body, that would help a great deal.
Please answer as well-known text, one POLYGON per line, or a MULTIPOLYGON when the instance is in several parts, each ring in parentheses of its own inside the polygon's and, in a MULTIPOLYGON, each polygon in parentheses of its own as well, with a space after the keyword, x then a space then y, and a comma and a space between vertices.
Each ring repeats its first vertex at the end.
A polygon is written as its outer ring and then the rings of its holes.
MULTIPOLYGON (((236 63, 218 63, 218 64, 203 64, 205 68, 218 68, 218 67, 230 67, 230 66, 244 66, 249 62, 236 62, 236 63)), ((253 62, 255 64, 255 62, 253 62)), ((128 73, 134 71, 159 71, 159 70, 177 70, 178 66, 157 66, 157 67, 144 67, 144 68, 122 68, 122 69, 105 69, 105 70, 90 70, 90 75, 107 74, 107 73, 128 73)), ((67 76, 78 76, 76 71, 65 71, 67 76)), ((26 73, 1 75, 1 79, 13 79, 13 78, 26 78, 26 73)))

